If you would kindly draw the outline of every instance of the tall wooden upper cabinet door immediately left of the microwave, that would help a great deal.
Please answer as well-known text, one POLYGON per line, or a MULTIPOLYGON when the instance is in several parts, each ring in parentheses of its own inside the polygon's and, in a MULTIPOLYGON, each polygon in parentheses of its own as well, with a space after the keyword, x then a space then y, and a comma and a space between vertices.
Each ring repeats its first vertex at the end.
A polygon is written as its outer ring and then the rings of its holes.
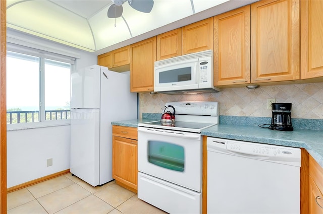
POLYGON ((156 46, 156 37, 130 45, 131 92, 153 91, 156 46))

